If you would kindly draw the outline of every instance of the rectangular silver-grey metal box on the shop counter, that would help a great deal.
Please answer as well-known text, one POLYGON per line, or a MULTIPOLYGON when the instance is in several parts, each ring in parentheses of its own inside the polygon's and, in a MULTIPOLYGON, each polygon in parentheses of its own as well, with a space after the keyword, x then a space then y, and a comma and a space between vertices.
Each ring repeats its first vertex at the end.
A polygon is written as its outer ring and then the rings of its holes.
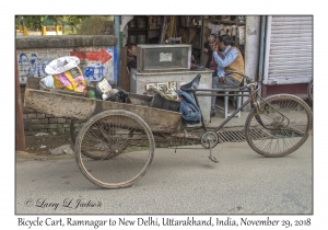
POLYGON ((137 45, 139 72, 167 72, 190 69, 191 45, 137 45))

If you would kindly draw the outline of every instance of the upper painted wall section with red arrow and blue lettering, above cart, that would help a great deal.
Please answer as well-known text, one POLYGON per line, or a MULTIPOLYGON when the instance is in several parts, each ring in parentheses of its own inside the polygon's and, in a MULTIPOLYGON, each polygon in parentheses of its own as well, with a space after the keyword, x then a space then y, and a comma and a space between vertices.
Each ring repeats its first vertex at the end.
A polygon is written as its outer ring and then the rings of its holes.
POLYGON ((46 66, 63 56, 79 57, 87 80, 97 81, 105 77, 117 81, 114 68, 116 44, 117 38, 113 35, 16 37, 20 82, 26 83, 26 77, 46 77, 46 66))

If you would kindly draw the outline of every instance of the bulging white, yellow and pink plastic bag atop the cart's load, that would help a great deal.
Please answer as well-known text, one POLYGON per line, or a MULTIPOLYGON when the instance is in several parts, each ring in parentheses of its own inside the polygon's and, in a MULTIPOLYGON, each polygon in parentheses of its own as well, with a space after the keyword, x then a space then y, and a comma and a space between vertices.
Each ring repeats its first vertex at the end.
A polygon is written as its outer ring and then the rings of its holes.
POLYGON ((45 71, 52 74, 55 88, 83 92, 86 88, 86 81, 79 64, 80 59, 78 57, 61 57, 48 64, 45 71))

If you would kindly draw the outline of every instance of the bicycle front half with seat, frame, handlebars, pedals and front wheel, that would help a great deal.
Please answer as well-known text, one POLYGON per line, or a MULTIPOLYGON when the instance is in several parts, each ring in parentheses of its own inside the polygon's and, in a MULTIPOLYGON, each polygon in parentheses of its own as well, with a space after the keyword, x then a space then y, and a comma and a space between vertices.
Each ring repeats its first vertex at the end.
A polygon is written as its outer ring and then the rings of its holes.
MULTIPOLYGON (((230 72, 233 73, 233 72, 230 72)), ((226 73, 226 74, 230 74, 226 73)), ((239 106, 237 107, 229 117, 226 117, 218 127, 211 128, 210 130, 207 129, 204 125, 204 120, 202 117, 202 112, 201 113, 201 125, 204 134, 202 134, 200 138, 200 143, 202 145, 203 148, 210 150, 210 157, 209 159, 215 163, 219 161, 215 159, 215 157, 212 156, 212 148, 214 148, 219 142, 220 142, 220 137, 218 135, 218 131, 225 125, 227 124, 237 113, 239 113, 247 104, 250 103, 251 111, 248 115, 248 118, 246 119, 245 124, 245 137, 248 142, 248 145, 259 154, 266 156, 266 157, 282 157, 285 154, 289 154, 293 151, 295 151, 296 148, 300 148, 301 145, 304 143, 306 138, 308 137, 308 130, 309 130, 309 120, 311 120, 311 114, 309 114, 309 108, 308 106, 302 101, 302 99, 289 94, 281 94, 280 95, 272 95, 268 97, 268 100, 262 99, 257 92, 260 89, 260 87, 257 84, 257 81, 248 78, 247 76, 244 76, 243 73, 236 72, 241 76, 244 77, 246 80, 246 85, 242 87, 241 89, 197 89, 199 84, 199 79, 200 76, 198 74, 192 81, 188 82, 185 85, 181 85, 180 90, 185 92, 190 92, 194 95, 195 102, 200 108, 200 104, 198 101, 198 96, 229 96, 226 92, 243 92, 244 94, 234 94, 234 96, 248 96, 248 99, 239 106), (247 88, 247 90, 245 90, 247 88), (221 92, 221 93, 219 93, 221 92), (291 127, 289 128, 291 124, 291 119, 289 116, 289 113, 284 113, 284 106, 280 107, 280 99, 282 102, 284 100, 290 100, 293 102, 294 106, 303 106, 303 117, 304 120, 301 120, 304 123, 304 128, 305 131, 302 133, 300 130, 301 136, 294 136, 294 133, 297 131, 291 127), (278 107, 274 106, 276 100, 278 101, 278 107), (272 103, 271 103, 272 102, 272 103), (270 113, 262 113, 266 112, 270 107, 270 113), (282 108, 282 110, 281 110, 282 108), (272 112, 272 114, 271 114, 272 112), (250 116, 251 115, 251 116, 250 116), (278 115, 278 116, 277 116, 278 115), (280 116, 279 116, 280 115, 280 116), (262 120, 261 116, 266 117, 266 119, 262 120), (273 117, 272 117, 273 116, 273 117), (267 120, 267 118, 274 119, 273 123, 270 120, 267 120), (262 128, 273 131, 273 133, 268 133, 265 134, 265 136, 260 136, 260 139, 255 139, 251 137, 250 134, 250 123, 253 119, 256 119, 258 124, 262 128), (278 133, 276 133, 278 131, 278 133), (278 136, 277 136, 278 135, 278 136), (267 138, 268 137, 268 138, 267 138), (297 139, 294 140, 292 139, 289 141, 288 139, 284 138, 290 138, 290 137, 296 137, 297 139), (298 138, 301 137, 301 139, 298 138), (281 139, 282 138, 282 139, 281 139), (268 143, 266 143, 266 149, 261 147, 263 141, 268 139, 268 143), (258 141, 260 140, 260 143, 255 142, 254 140, 258 141), (274 142, 271 147, 272 141, 274 142), (286 146, 285 148, 282 147, 282 149, 278 149, 277 151, 277 146, 286 146)), ((292 107, 289 107, 288 105, 286 110, 293 110, 292 107)), ((295 114, 294 114, 295 115, 295 114)), ((297 123, 298 124, 298 123, 297 123)), ((258 137, 257 137, 258 138, 258 137)), ((177 149, 177 147, 176 147, 177 149)), ((189 149, 189 148, 185 148, 189 149)))

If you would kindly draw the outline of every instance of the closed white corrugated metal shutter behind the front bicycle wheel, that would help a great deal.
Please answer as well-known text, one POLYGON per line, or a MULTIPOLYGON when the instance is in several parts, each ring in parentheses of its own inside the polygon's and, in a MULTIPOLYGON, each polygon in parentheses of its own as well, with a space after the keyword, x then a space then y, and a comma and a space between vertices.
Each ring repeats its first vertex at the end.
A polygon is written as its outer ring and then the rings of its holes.
POLYGON ((313 16, 268 16, 263 84, 309 82, 313 78, 313 16))

